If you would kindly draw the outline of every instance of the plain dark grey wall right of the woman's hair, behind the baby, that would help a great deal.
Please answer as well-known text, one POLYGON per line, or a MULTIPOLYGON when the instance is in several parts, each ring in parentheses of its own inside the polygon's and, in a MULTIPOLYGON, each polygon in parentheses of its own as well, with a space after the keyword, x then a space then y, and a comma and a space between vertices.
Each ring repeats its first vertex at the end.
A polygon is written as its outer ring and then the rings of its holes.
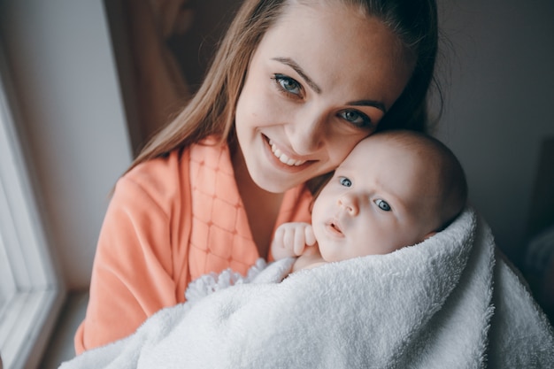
POLYGON ((519 263, 541 142, 554 136, 554 2, 439 4, 453 49, 439 136, 465 165, 497 245, 519 263))

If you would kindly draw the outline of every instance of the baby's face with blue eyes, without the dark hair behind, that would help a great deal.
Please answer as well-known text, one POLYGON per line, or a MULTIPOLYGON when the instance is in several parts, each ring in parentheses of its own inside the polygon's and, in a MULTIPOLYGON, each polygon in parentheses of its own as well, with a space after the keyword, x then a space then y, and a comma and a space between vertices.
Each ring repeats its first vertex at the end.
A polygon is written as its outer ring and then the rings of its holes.
POLYGON ((396 142, 360 142, 313 206, 321 256, 331 262, 386 254, 440 227, 438 181, 427 166, 396 142))

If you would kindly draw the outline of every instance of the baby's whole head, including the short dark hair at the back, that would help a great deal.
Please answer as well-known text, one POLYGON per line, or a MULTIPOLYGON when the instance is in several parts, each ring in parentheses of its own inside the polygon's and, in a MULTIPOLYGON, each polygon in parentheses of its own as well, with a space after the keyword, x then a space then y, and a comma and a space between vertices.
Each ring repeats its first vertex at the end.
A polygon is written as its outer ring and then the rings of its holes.
POLYGON ((386 254, 441 231, 466 198, 464 170, 442 142, 381 132, 359 142, 321 190, 313 231, 327 261, 386 254))

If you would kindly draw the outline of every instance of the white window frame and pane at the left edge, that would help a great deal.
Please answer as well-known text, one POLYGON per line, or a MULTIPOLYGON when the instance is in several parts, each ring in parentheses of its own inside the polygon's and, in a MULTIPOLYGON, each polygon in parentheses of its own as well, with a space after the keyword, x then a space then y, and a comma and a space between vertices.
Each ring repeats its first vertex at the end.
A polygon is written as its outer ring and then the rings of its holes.
POLYGON ((7 77, 0 63, 0 357, 4 369, 33 368, 42 357, 64 289, 43 234, 7 77))

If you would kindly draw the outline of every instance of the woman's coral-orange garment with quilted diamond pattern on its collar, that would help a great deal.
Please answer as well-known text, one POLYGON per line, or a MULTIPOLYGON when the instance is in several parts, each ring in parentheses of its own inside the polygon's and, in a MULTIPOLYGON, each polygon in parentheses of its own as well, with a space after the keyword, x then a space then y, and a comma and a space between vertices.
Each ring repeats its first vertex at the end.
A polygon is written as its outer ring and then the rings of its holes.
MULTIPOLYGON (((290 189, 276 226, 310 221, 311 201, 304 186, 290 189)), ((227 146, 195 144, 137 165, 119 179, 105 215, 76 353, 184 302, 200 275, 227 267, 246 273, 257 258, 227 146)))

